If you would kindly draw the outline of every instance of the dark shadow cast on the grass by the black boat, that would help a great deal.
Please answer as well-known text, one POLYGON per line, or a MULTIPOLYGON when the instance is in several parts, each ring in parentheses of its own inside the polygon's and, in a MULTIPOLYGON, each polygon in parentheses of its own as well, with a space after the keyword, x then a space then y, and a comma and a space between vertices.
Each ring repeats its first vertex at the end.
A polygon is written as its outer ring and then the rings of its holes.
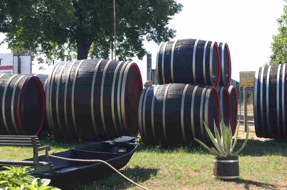
MULTIPOLYGON (((133 180, 136 183, 142 183, 149 179, 154 178, 157 173, 158 169, 152 168, 141 168, 141 167, 134 167, 129 168, 126 167, 120 172, 128 177, 129 179, 133 180)), ((128 189, 133 187, 134 185, 128 181, 126 181, 123 177, 121 177, 117 173, 113 173, 112 175, 104 176, 102 179, 95 181, 93 183, 88 183, 85 185, 80 185, 76 187, 78 190, 94 190, 94 189, 104 189, 104 190, 119 190, 119 189, 128 189)))

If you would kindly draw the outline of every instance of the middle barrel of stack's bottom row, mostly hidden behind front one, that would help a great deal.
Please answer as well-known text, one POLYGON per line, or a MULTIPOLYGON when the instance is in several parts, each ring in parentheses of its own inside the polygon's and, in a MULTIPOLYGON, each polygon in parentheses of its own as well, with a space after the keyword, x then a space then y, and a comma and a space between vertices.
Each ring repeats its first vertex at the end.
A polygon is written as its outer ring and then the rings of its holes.
POLYGON ((231 112, 231 102, 228 90, 224 86, 218 86, 218 95, 220 102, 220 118, 224 121, 224 124, 232 124, 232 112, 231 112))

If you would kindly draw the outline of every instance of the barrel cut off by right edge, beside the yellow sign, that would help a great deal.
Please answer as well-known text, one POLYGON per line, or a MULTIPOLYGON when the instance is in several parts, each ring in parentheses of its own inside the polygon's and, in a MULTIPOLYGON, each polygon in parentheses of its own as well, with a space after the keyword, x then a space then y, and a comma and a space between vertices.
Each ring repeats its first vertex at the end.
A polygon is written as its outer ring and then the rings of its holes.
POLYGON ((286 80, 286 64, 261 67, 256 71, 253 100, 256 136, 287 138, 286 80))

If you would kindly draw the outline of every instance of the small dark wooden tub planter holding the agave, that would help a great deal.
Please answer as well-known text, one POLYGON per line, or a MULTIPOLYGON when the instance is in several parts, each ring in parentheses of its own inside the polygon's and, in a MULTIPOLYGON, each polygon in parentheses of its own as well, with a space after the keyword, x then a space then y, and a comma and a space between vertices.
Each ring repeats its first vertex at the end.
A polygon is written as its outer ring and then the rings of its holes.
POLYGON ((212 177, 223 179, 225 181, 234 181, 239 179, 239 162, 236 157, 214 157, 212 177))

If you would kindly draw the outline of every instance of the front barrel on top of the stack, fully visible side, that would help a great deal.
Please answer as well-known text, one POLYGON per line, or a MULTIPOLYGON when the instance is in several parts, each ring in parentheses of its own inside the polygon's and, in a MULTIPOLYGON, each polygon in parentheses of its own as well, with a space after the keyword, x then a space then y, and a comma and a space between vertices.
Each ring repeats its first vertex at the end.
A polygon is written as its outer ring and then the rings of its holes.
POLYGON ((220 56, 217 43, 179 39, 159 45, 156 58, 159 84, 192 83, 218 86, 220 56))

